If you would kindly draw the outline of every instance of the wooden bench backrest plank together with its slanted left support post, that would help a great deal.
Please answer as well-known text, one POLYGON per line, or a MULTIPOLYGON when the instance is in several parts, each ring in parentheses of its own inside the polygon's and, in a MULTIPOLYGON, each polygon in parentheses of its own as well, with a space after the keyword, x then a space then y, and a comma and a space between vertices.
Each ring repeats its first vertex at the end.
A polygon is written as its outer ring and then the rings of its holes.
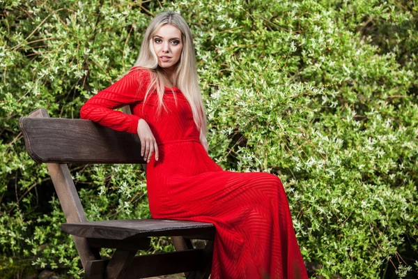
MULTIPOLYGON (((49 118, 38 109, 19 119, 26 150, 33 160, 47 163, 67 223, 86 222, 86 215, 67 163, 141 163, 137 135, 121 133, 82 119, 49 118)), ((84 268, 97 253, 84 238, 73 236, 84 268)))

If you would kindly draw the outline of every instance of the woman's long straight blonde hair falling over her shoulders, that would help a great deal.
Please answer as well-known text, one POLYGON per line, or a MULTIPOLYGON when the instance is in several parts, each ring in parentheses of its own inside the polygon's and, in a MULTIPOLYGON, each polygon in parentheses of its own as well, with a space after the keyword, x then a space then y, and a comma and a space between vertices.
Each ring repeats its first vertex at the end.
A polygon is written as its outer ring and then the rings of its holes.
POLYGON ((137 62, 134 64, 134 66, 148 70, 151 74, 144 102, 146 101, 148 93, 155 89, 158 96, 157 113, 160 112, 161 107, 164 107, 164 110, 167 110, 163 103, 164 73, 162 72, 162 68, 158 66, 158 57, 153 48, 153 36, 155 36, 160 27, 165 24, 171 24, 174 27, 177 27, 182 34, 181 40, 183 49, 174 75, 173 86, 183 92, 183 95, 192 108, 194 123, 196 123, 198 129, 201 129, 203 135, 206 135, 207 120, 201 91, 199 89, 192 31, 190 31, 189 26, 179 13, 160 13, 153 18, 146 29, 137 62))

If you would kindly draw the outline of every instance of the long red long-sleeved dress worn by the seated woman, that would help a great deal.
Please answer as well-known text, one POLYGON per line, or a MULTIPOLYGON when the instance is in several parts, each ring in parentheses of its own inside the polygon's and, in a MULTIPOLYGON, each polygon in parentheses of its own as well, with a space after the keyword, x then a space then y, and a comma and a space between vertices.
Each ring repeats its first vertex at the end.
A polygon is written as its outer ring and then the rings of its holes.
POLYGON ((192 220, 216 227, 211 278, 307 278, 286 193, 279 177, 263 172, 223 170, 199 142, 192 110, 180 89, 165 88, 157 116, 157 94, 148 94, 149 73, 134 67, 121 80, 97 93, 81 117, 127 133, 139 119, 150 126, 158 144, 146 169, 153 218, 192 220), (142 82, 139 82, 141 80, 142 82), (132 114, 114 110, 130 105, 132 114), (144 108, 144 111, 142 109, 144 108))

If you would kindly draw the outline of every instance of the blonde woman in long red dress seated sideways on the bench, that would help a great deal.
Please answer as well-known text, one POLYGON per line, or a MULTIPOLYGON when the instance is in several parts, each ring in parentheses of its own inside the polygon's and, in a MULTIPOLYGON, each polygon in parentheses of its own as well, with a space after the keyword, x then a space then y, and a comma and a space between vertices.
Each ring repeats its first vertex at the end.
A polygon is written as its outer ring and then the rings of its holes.
POLYGON ((212 279, 307 278, 280 179, 224 171, 207 154, 192 33, 178 13, 153 19, 137 63, 81 116, 139 136, 153 218, 215 225, 212 279), (132 114, 114 110, 125 105, 132 114))

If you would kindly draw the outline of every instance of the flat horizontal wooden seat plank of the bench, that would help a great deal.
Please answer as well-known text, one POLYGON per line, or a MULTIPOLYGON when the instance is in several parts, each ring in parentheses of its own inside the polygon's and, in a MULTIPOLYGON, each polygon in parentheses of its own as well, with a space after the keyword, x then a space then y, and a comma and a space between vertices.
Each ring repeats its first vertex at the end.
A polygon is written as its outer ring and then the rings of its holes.
POLYGON ((135 219, 61 224, 68 234, 93 239, 134 239, 148 236, 183 236, 212 232, 215 226, 180 220, 135 219))

